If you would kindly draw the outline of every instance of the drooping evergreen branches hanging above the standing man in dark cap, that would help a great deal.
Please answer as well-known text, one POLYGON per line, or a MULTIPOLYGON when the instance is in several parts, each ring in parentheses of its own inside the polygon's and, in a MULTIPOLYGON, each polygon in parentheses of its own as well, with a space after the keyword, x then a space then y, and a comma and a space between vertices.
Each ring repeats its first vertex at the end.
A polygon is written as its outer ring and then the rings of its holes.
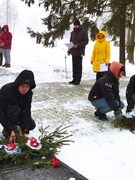
MULTIPOLYGON (((28 6, 34 0, 22 0, 28 6)), ((70 25, 78 18, 83 27, 90 32, 90 38, 95 40, 95 34, 99 31, 92 17, 102 16, 106 7, 105 0, 40 0, 39 6, 44 6, 49 15, 42 19, 47 27, 46 32, 34 32, 28 27, 28 33, 36 38, 37 43, 42 43, 46 47, 53 47, 56 39, 62 39, 65 31, 70 29, 70 25), (91 18, 90 18, 91 17, 91 18)))

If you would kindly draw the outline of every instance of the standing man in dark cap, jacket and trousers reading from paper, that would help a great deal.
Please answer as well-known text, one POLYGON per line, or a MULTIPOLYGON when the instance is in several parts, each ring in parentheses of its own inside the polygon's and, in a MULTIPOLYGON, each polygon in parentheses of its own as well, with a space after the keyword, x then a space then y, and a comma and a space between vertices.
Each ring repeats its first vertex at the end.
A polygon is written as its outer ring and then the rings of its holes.
POLYGON ((74 45, 68 51, 72 55, 73 80, 69 84, 79 85, 82 78, 82 58, 85 55, 85 46, 88 44, 88 34, 77 19, 74 21, 74 30, 71 32, 70 42, 74 45))

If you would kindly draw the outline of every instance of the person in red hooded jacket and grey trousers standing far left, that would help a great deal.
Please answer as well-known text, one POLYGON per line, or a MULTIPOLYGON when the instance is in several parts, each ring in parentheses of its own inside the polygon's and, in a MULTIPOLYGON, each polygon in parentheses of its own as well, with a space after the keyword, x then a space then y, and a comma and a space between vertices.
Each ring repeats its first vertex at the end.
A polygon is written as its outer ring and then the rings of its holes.
POLYGON ((4 25, 2 28, 2 33, 0 36, 0 42, 2 45, 2 52, 5 58, 5 64, 2 67, 9 68, 11 67, 11 45, 12 45, 12 34, 9 32, 8 25, 4 25))

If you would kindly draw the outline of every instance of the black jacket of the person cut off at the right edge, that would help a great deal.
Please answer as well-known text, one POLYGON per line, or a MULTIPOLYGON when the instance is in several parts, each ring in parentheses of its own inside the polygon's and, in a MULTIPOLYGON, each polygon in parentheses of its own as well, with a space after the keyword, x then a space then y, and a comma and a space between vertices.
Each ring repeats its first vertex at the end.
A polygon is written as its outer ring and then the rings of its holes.
POLYGON ((130 112, 130 110, 134 108, 134 100, 132 97, 134 94, 135 94, 135 75, 133 75, 130 78, 126 89, 126 100, 128 105, 127 112, 130 112))

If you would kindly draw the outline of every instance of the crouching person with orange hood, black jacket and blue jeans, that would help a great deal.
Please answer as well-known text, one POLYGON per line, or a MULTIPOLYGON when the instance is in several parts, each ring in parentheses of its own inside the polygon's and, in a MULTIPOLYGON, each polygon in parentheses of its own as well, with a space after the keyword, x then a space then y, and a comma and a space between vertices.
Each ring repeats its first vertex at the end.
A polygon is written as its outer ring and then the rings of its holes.
POLYGON ((124 74, 124 65, 112 62, 110 70, 95 82, 89 93, 89 101, 96 108, 95 116, 107 120, 106 113, 114 111, 116 119, 122 118, 124 103, 120 100, 119 79, 124 74))

